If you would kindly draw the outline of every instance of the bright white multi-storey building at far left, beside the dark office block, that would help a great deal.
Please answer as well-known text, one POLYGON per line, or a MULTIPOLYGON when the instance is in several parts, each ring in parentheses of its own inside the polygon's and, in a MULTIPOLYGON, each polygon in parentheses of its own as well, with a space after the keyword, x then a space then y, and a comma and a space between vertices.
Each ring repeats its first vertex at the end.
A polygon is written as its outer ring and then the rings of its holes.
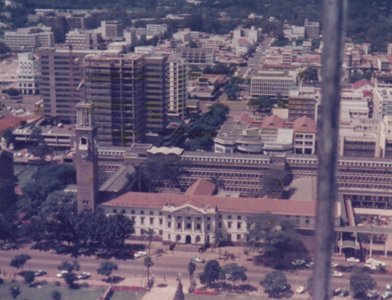
POLYGON ((38 57, 33 53, 18 53, 18 88, 22 94, 38 94, 40 71, 38 57))

